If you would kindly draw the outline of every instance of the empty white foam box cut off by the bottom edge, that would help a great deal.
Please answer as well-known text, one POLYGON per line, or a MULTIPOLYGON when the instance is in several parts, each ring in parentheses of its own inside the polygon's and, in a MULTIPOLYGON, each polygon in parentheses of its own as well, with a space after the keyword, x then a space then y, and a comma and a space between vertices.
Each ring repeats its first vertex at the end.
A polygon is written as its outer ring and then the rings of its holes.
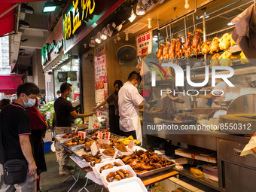
POLYGON ((111 192, 147 192, 147 188, 137 177, 123 179, 113 184, 108 184, 108 190, 111 192))

